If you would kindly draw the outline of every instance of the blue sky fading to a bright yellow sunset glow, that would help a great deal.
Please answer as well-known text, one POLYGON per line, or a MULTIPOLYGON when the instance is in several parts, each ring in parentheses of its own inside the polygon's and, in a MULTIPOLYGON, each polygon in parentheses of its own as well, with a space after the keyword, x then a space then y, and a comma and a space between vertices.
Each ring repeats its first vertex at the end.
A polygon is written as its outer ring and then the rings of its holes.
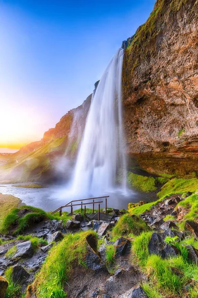
POLYGON ((38 141, 92 93, 155 0, 0 0, 0 147, 38 141))

